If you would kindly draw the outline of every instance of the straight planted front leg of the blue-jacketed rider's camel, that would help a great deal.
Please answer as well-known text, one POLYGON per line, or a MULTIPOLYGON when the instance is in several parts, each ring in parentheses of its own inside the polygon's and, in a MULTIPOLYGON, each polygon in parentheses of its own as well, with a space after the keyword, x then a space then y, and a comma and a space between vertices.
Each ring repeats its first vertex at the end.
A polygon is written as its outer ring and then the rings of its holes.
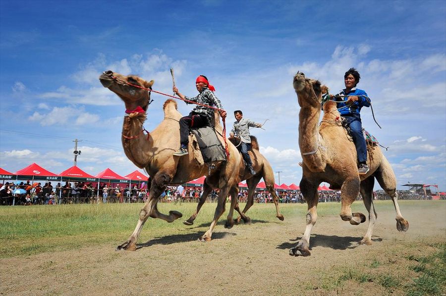
POLYGON ((318 185, 311 184, 308 181, 302 179, 300 181, 300 190, 302 195, 305 197, 308 205, 308 212, 306 215, 307 226, 305 227, 305 232, 302 238, 297 243, 296 247, 289 249, 289 254, 291 256, 310 256, 310 235, 313 226, 316 224, 316 220, 318 219, 318 185))

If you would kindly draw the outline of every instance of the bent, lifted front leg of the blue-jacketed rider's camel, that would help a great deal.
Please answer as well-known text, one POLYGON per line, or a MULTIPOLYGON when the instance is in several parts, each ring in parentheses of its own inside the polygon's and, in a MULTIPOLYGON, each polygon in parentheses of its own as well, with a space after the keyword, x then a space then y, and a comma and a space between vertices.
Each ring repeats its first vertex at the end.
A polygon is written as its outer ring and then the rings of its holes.
POLYGON ((363 213, 352 213, 351 204, 356 200, 359 194, 359 177, 344 181, 341 187, 341 212, 340 217, 343 221, 350 221, 351 225, 364 223, 366 217, 363 213))

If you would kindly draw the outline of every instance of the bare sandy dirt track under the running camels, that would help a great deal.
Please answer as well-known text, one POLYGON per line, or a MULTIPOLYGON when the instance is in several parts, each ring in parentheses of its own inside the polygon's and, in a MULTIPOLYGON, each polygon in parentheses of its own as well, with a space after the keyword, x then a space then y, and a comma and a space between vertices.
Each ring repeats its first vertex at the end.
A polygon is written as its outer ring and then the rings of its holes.
MULTIPOLYGON (((333 286, 327 281, 374 260, 381 262, 381 272, 409 281, 404 256, 431 251, 420 247, 424 241, 445 242, 445 208, 429 214, 412 208, 403 215, 409 221, 407 233, 396 230, 394 214, 378 213, 372 246, 357 245, 368 222, 352 226, 339 216, 319 216, 309 257, 288 254, 304 231, 303 216, 268 223, 252 217, 253 224, 229 230, 218 225, 209 243, 196 241, 201 230, 186 233, 196 226, 176 221, 184 235, 140 240, 142 245, 134 252, 102 245, 1 259, 0 294, 389 295, 375 282, 333 286)), ((398 290, 392 295, 401 294, 398 290)))

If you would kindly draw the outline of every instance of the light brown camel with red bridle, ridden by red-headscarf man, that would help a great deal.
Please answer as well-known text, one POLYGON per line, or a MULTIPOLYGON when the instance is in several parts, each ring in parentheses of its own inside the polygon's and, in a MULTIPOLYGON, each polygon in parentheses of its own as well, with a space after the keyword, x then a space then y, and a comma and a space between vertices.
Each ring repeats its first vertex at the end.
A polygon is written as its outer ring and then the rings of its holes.
MULTIPOLYGON (((179 119, 182 117, 177 111, 177 104, 173 99, 167 99, 163 109, 164 120, 148 136, 143 134, 143 122, 146 120, 146 111, 149 106, 150 93, 147 90, 131 86, 137 85, 151 89, 154 81, 129 75, 124 76, 112 71, 104 72, 100 77, 102 85, 110 89, 124 101, 126 115, 122 126, 122 146, 125 155, 139 168, 144 168, 149 174, 149 197, 139 213, 139 219, 132 235, 117 249, 135 250, 136 241, 148 217, 161 218, 173 222, 182 216, 177 211, 169 211, 169 215, 158 211, 157 202, 162 192, 170 184, 183 184, 192 179, 208 175, 207 183, 220 189, 220 195, 215 210, 214 219, 209 230, 199 239, 211 241, 212 232, 224 212, 225 200, 231 195, 231 207, 227 216, 225 227, 232 227, 233 209, 238 194, 238 170, 241 157, 231 143, 228 143, 230 158, 219 162, 209 171, 207 165, 199 165, 194 160, 194 153, 189 144, 189 154, 178 157, 172 155, 179 148, 179 119), (128 84, 129 83, 129 84, 128 84), (128 115, 128 116, 127 116, 128 115), (210 172, 210 173, 209 173, 210 172)), ((218 112, 215 117, 215 128, 222 134, 218 112)), ((219 136, 223 143, 223 137, 219 136)), ((224 143, 223 143, 224 147, 224 143)))

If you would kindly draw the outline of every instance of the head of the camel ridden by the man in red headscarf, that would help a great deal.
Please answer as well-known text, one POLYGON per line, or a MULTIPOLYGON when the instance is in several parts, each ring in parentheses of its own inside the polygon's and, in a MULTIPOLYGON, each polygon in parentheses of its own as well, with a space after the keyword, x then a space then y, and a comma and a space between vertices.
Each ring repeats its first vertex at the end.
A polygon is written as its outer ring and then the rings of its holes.
POLYGON ((99 80, 104 87, 111 90, 124 101, 127 110, 135 110, 139 106, 143 108, 144 111, 147 111, 147 106, 150 101, 150 92, 132 85, 152 89, 154 83, 153 80, 145 81, 135 75, 124 76, 111 70, 103 72, 102 75, 99 76, 99 80))

